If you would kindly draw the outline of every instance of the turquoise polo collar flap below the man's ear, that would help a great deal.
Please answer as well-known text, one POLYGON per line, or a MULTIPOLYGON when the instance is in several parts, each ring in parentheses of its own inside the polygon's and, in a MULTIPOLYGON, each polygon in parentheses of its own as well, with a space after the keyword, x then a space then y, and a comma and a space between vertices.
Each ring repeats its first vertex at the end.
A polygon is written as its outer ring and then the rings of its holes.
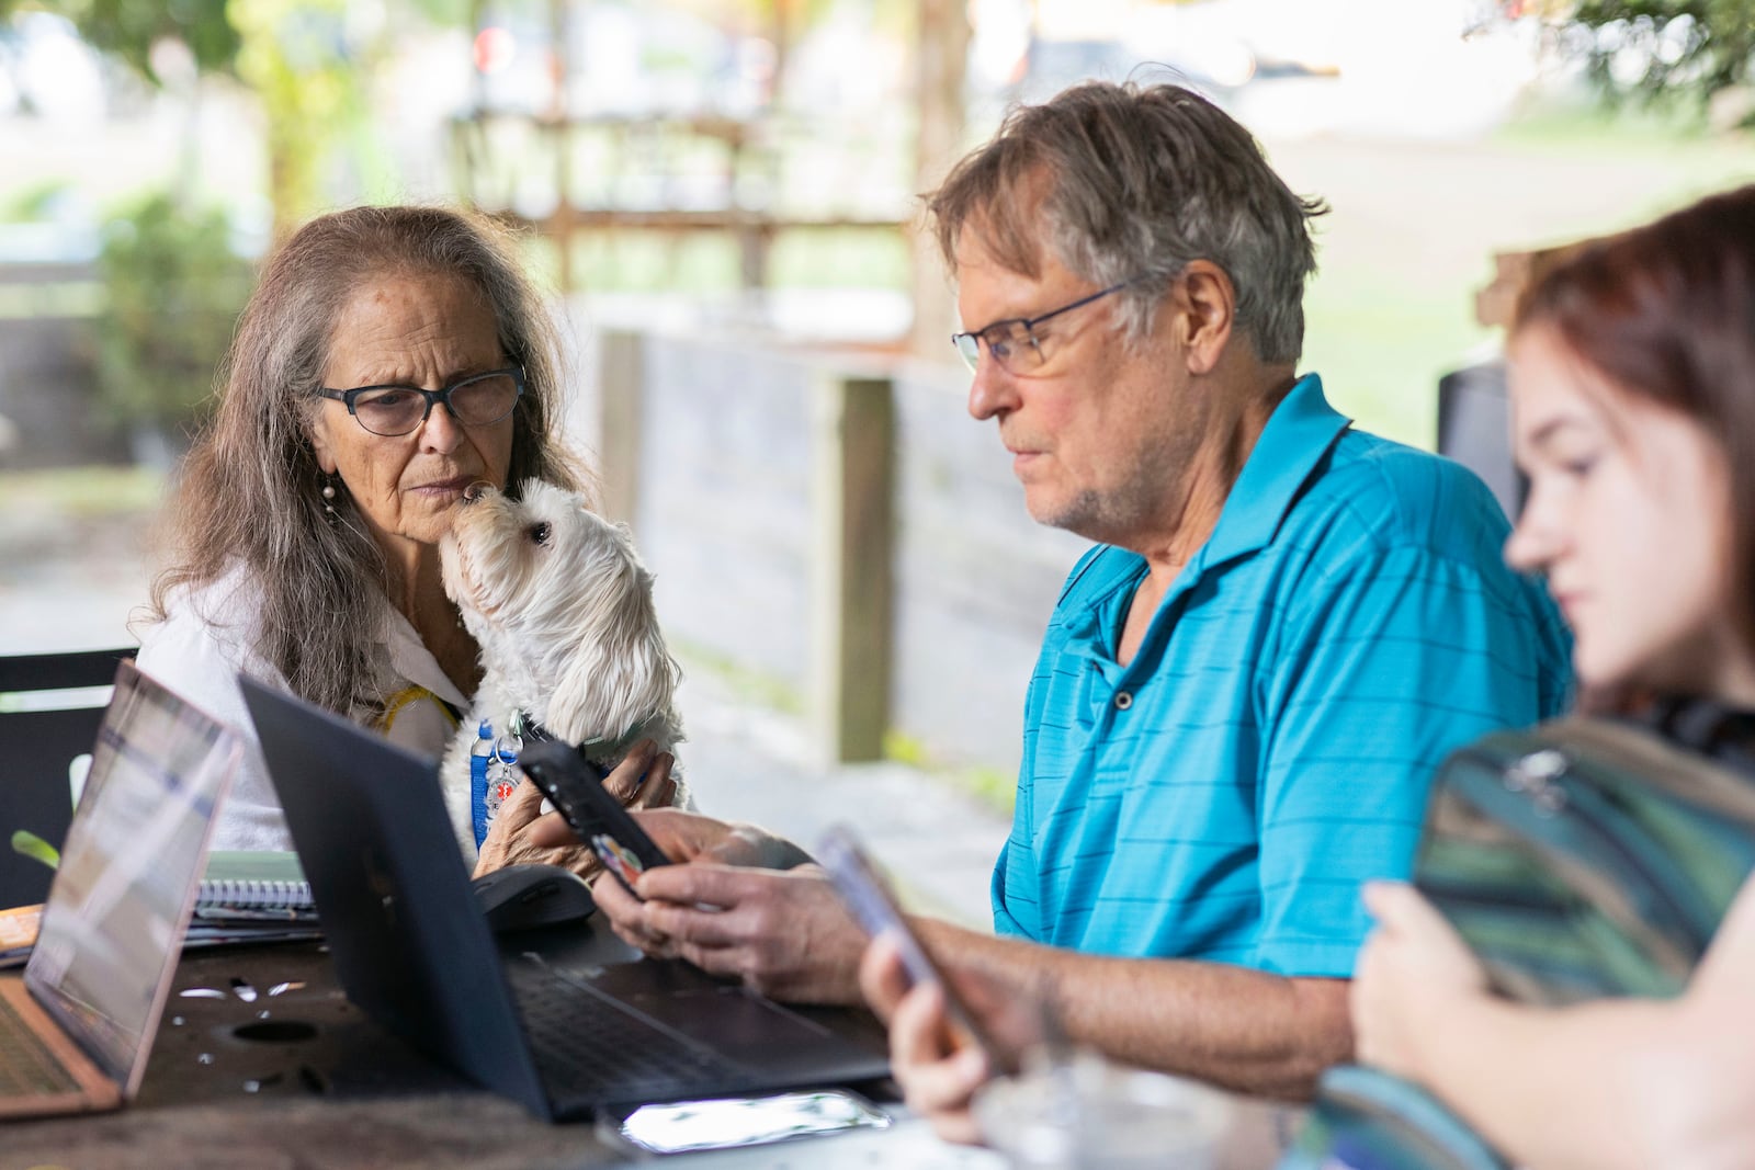
POLYGON ((1211 568, 1265 549, 1311 472, 1351 423, 1329 405, 1322 377, 1300 377, 1262 428, 1243 474, 1225 498, 1225 510, 1220 512, 1213 535, 1190 568, 1211 568))

